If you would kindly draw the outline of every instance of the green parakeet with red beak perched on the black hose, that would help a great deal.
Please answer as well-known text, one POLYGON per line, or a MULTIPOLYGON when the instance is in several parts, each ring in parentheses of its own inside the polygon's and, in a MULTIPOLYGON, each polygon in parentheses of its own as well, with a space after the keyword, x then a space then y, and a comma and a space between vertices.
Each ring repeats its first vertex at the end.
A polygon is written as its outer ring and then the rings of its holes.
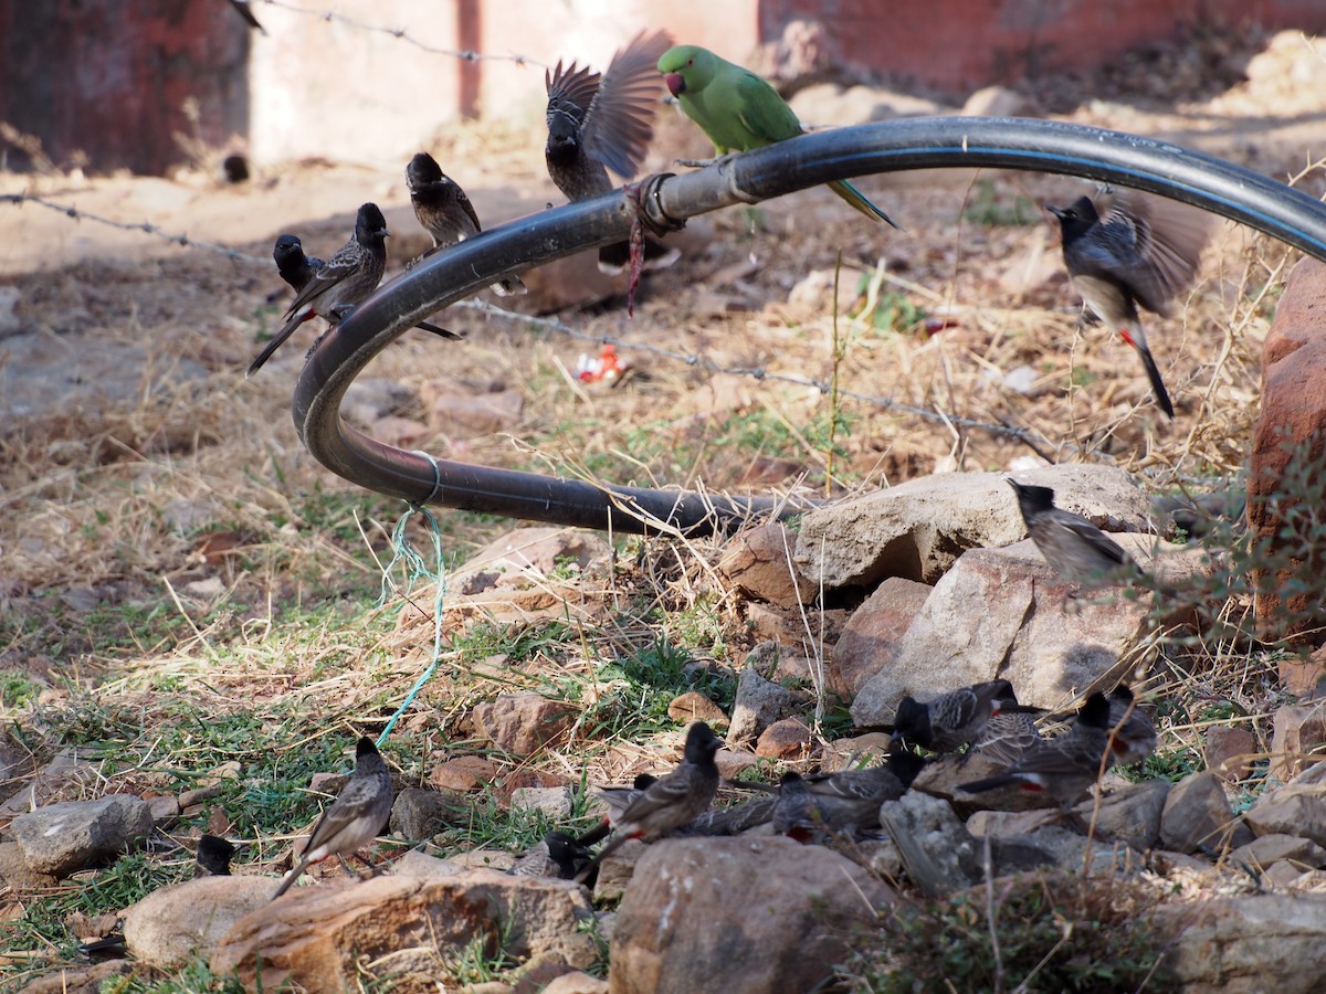
MULTIPOLYGON (((805 134, 788 102, 769 83, 699 45, 670 48, 659 72, 682 110, 713 142, 715 150, 748 152, 805 134)), ((829 188, 873 220, 894 221, 847 180, 829 188)))

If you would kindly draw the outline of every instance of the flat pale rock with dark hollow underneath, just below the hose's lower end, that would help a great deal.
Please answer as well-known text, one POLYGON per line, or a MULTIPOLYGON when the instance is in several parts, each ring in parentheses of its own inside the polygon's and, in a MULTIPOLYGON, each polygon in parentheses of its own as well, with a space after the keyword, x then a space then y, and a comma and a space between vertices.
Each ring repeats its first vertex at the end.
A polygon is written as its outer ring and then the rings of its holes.
MULTIPOLYGON (((1020 473, 1052 486, 1055 504, 1109 530, 1146 531, 1150 501, 1122 469, 1063 465, 1020 473)), ((801 518, 798 573, 817 587, 874 586, 886 577, 935 583, 968 549, 1026 537, 1017 500, 997 473, 939 473, 801 518)))

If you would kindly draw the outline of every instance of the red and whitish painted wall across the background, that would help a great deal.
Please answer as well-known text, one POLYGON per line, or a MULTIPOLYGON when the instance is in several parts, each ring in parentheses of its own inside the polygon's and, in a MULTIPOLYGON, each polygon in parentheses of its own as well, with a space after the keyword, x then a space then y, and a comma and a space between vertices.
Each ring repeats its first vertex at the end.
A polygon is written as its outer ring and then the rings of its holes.
MULTIPOLYGON (((317 12, 406 28, 422 45, 579 58, 605 68, 646 27, 765 72, 815 65, 914 81, 960 101, 991 82, 1087 68, 1183 24, 1326 32, 1326 0, 225 0, 0 3, 0 119, 57 163, 160 172, 202 107, 202 137, 247 139, 259 163, 305 156, 399 162, 461 115, 541 126, 544 70, 463 61, 317 12)), ((826 74, 834 74, 833 72, 826 74)), ((21 156, 11 160, 23 166, 21 156)))

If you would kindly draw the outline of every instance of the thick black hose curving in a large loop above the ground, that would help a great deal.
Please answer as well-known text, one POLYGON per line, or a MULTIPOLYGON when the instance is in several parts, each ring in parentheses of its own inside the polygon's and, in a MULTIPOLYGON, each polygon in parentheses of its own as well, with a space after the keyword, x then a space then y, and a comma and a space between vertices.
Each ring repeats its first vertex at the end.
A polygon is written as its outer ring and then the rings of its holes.
POLYGON ((1020 118, 858 125, 780 142, 686 175, 651 176, 639 187, 522 217, 435 254, 381 288, 322 339, 296 386, 296 428, 314 459, 332 472, 415 504, 582 527, 688 534, 707 534, 749 514, 776 510, 782 505, 772 498, 601 486, 435 460, 347 427, 339 417, 341 399, 369 360, 416 321, 508 273, 622 241, 638 215, 651 227, 678 227, 720 207, 831 180, 973 167, 1059 172, 1160 193, 1326 261, 1326 205, 1241 166, 1167 142, 1020 118))

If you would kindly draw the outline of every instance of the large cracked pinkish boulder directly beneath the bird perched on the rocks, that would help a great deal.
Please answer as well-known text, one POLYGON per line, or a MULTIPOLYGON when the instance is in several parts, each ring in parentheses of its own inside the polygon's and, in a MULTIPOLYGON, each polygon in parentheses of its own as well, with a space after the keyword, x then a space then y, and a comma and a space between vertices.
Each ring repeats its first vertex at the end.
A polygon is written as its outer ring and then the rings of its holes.
POLYGON ((851 717, 888 724, 904 694, 928 700, 996 677, 1012 681, 1022 704, 1063 706, 1114 669, 1147 627, 1140 599, 1077 594, 1030 539, 965 553, 903 634, 895 664, 862 685, 851 717))

